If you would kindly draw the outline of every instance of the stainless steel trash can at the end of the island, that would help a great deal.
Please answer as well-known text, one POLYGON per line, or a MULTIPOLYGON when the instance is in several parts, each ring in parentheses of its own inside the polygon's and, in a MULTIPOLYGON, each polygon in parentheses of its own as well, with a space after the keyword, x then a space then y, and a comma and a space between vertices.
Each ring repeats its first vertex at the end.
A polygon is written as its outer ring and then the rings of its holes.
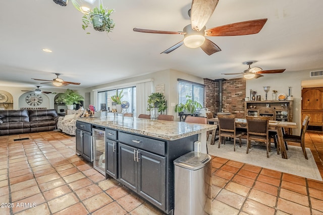
POLYGON ((174 214, 211 214, 211 156, 189 152, 174 167, 174 214))

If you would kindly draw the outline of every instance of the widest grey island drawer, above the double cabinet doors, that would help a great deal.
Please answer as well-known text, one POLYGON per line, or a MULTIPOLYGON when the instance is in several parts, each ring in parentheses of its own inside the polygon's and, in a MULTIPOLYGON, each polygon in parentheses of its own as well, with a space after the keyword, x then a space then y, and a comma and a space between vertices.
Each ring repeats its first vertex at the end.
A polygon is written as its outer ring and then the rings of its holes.
POLYGON ((151 153, 165 156, 165 141, 152 139, 149 137, 138 136, 131 133, 119 132, 119 141, 138 149, 143 149, 151 153))

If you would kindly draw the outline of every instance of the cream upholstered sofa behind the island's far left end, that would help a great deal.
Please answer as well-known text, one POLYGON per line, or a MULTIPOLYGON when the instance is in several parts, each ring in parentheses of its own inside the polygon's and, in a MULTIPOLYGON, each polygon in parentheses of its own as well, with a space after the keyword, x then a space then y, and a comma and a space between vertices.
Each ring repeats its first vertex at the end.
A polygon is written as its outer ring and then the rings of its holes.
POLYGON ((75 136, 76 120, 83 114, 83 112, 84 109, 79 109, 76 110, 74 114, 59 117, 57 128, 62 130, 64 133, 75 136))

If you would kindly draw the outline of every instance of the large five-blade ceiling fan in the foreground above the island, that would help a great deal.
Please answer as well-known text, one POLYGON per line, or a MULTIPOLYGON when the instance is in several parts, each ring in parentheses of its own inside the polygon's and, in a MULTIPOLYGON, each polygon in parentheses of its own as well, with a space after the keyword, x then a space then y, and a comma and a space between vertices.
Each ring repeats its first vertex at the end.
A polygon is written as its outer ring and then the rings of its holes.
POLYGON ((184 39, 161 53, 170 53, 185 44, 189 48, 201 47, 208 55, 221 51, 221 48, 214 44, 206 36, 239 36, 258 33, 267 19, 250 20, 238 22, 219 27, 206 29, 205 24, 213 14, 219 0, 193 0, 189 11, 191 24, 184 27, 183 31, 159 31, 134 28, 133 31, 154 34, 181 34, 184 39))

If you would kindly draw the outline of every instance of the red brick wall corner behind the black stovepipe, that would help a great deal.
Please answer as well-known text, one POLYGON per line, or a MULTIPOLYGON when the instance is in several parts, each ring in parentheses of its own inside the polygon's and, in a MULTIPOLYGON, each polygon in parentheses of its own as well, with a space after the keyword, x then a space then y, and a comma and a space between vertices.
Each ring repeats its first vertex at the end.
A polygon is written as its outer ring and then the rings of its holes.
MULTIPOLYGON (((219 82, 204 79, 205 85, 205 108, 211 112, 219 112, 219 82)), ((246 80, 231 79, 223 81, 223 111, 244 118, 244 98, 246 97, 246 80)), ((220 110, 221 111, 221 110, 220 110)))

